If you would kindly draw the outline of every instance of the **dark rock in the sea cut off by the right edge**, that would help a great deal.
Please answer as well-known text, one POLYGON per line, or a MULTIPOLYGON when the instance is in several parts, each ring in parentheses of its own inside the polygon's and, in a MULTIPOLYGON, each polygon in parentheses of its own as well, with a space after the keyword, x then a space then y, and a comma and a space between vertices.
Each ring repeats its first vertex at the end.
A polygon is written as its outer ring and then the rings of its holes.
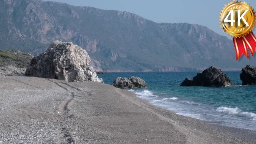
POLYGON ((256 67, 246 65, 246 67, 242 69, 240 79, 243 82, 242 85, 256 85, 256 67))

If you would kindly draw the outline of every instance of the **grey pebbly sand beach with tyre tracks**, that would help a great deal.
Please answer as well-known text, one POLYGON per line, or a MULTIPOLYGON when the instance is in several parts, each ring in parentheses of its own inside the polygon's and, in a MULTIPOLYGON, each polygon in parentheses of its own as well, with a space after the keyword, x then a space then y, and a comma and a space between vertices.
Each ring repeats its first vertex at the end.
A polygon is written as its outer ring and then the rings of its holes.
POLYGON ((207 124, 100 82, 0 76, 0 144, 256 143, 256 131, 207 124))

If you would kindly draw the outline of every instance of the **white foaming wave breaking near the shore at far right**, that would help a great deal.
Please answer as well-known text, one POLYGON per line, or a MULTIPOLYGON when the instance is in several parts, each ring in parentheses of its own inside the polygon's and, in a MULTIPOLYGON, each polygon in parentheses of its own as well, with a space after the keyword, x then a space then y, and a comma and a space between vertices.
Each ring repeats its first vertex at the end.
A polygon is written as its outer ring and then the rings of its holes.
POLYGON ((239 117, 244 117, 244 118, 249 118, 252 119, 253 121, 256 121, 256 114, 253 112, 246 112, 242 111, 240 108, 228 108, 228 107, 219 107, 217 108, 218 112, 223 112, 228 115, 236 115, 239 117))

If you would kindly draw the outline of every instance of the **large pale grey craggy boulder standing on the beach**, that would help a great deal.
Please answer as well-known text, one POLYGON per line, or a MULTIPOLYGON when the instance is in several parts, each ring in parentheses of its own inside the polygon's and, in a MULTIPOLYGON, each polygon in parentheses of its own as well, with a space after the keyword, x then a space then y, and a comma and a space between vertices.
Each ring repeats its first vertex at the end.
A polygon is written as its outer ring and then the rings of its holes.
POLYGON ((90 57, 84 49, 71 42, 55 41, 31 60, 25 75, 67 82, 102 82, 89 63, 90 57))

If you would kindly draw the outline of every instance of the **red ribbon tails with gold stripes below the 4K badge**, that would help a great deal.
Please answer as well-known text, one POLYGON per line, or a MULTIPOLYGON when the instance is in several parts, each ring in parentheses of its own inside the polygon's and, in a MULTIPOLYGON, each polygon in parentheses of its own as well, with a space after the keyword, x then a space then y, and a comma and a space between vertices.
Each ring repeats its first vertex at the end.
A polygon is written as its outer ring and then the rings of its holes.
POLYGON ((249 58, 249 53, 247 48, 249 48, 252 56, 256 48, 256 37, 253 35, 253 32, 246 34, 246 36, 234 37, 233 43, 236 50, 236 60, 244 54, 247 58, 249 58))

